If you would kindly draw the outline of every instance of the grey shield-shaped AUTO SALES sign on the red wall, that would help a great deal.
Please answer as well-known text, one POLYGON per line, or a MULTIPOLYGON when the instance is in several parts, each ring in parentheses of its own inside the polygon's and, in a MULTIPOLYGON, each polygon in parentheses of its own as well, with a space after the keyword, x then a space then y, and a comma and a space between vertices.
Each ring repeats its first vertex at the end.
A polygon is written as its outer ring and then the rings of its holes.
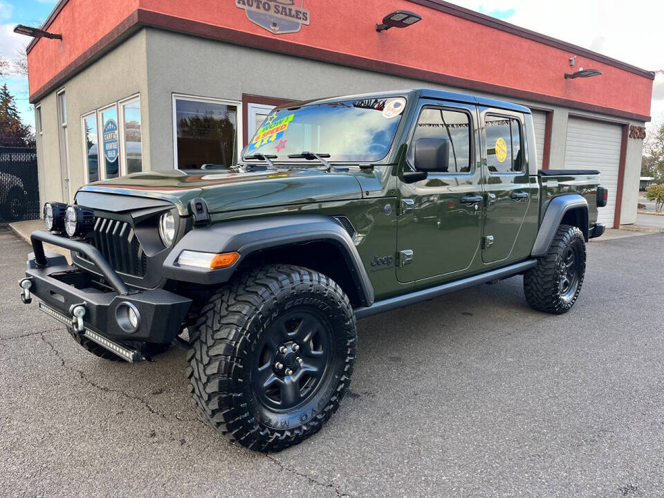
POLYGON ((275 35, 297 33, 311 19, 304 0, 235 0, 235 6, 244 9, 252 23, 275 35))

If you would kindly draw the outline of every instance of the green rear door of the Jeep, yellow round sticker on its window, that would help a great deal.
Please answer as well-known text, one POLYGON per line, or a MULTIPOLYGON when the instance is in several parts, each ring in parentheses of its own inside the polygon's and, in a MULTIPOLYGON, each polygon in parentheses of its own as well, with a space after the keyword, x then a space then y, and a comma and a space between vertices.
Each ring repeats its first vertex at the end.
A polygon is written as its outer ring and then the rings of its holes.
POLYGON ((480 109, 486 150, 486 218, 482 261, 493 263, 512 253, 531 202, 524 158, 524 120, 519 113, 480 109))

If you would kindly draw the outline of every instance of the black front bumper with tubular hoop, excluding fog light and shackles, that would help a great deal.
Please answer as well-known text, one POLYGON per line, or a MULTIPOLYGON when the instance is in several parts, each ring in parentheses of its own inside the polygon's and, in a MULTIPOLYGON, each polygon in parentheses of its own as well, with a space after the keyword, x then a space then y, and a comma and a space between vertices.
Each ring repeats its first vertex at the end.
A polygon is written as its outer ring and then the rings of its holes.
MULTIPOLYGON (((84 328, 111 340, 168 343, 180 333, 191 299, 160 288, 140 291, 127 288, 89 244, 46 232, 34 232, 31 240, 34 252, 28 256, 26 279, 30 280, 30 293, 50 308, 71 318, 75 306, 84 306, 84 328), (44 241, 83 252, 104 276, 103 282, 97 275, 68 264, 64 256, 45 253, 44 241), (118 315, 122 315, 118 307, 126 308, 124 303, 136 306, 140 316, 133 333, 122 328, 122 320, 118 321, 118 315)), ((62 321, 62 317, 57 320, 62 321)))

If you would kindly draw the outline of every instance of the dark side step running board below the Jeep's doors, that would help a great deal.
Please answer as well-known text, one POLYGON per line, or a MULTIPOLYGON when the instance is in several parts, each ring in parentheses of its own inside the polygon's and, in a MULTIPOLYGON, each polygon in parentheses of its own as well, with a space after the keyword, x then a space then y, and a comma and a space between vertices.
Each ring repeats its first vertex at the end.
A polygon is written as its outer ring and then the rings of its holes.
POLYGON ((384 311, 391 311, 397 308, 403 308, 404 306, 409 306, 410 304, 428 301, 434 297, 461 291, 461 289, 473 287, 478 284, 486 284, 487 282, 494 282, 495 280, 513 277, 514 275, 519 275, 519 273, 524 273, 524 271, 533 268, 536 264, 536 259, 528 259, 528 261, 522 261, 521 263, 492 270, 487 273, 481 273, 481 275, 475 275, 474 277, 455 280, 454 282, 423 289, 422 291, 384 299, 375 302, 373 306, 359 306, 354 309, 354 313, 358 319, 366 318, 371 315, 378 315, 378 313, 383 313, 384 311))

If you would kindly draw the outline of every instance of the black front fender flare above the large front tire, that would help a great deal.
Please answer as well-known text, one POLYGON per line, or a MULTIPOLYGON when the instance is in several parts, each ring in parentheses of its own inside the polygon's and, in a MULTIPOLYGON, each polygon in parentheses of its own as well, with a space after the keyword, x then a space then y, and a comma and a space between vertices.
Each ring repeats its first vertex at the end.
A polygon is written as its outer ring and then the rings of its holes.
POLYGON ((374 286, 371 285, 355 243, 342 225, 330 216, 268 216, 218 221, 205 227, 196 227, 187 232, 166 257, 164 275, 177 282, 223 284, 230 280, 243 259, 257 251, 312 241, 327 241, 340 248, 362 306, 374 304, 374 286), (240 258, 232 267, 219 270, 179 266, 177 259, 183 250, 214 253, 235 251, 239 252, 240 258))

